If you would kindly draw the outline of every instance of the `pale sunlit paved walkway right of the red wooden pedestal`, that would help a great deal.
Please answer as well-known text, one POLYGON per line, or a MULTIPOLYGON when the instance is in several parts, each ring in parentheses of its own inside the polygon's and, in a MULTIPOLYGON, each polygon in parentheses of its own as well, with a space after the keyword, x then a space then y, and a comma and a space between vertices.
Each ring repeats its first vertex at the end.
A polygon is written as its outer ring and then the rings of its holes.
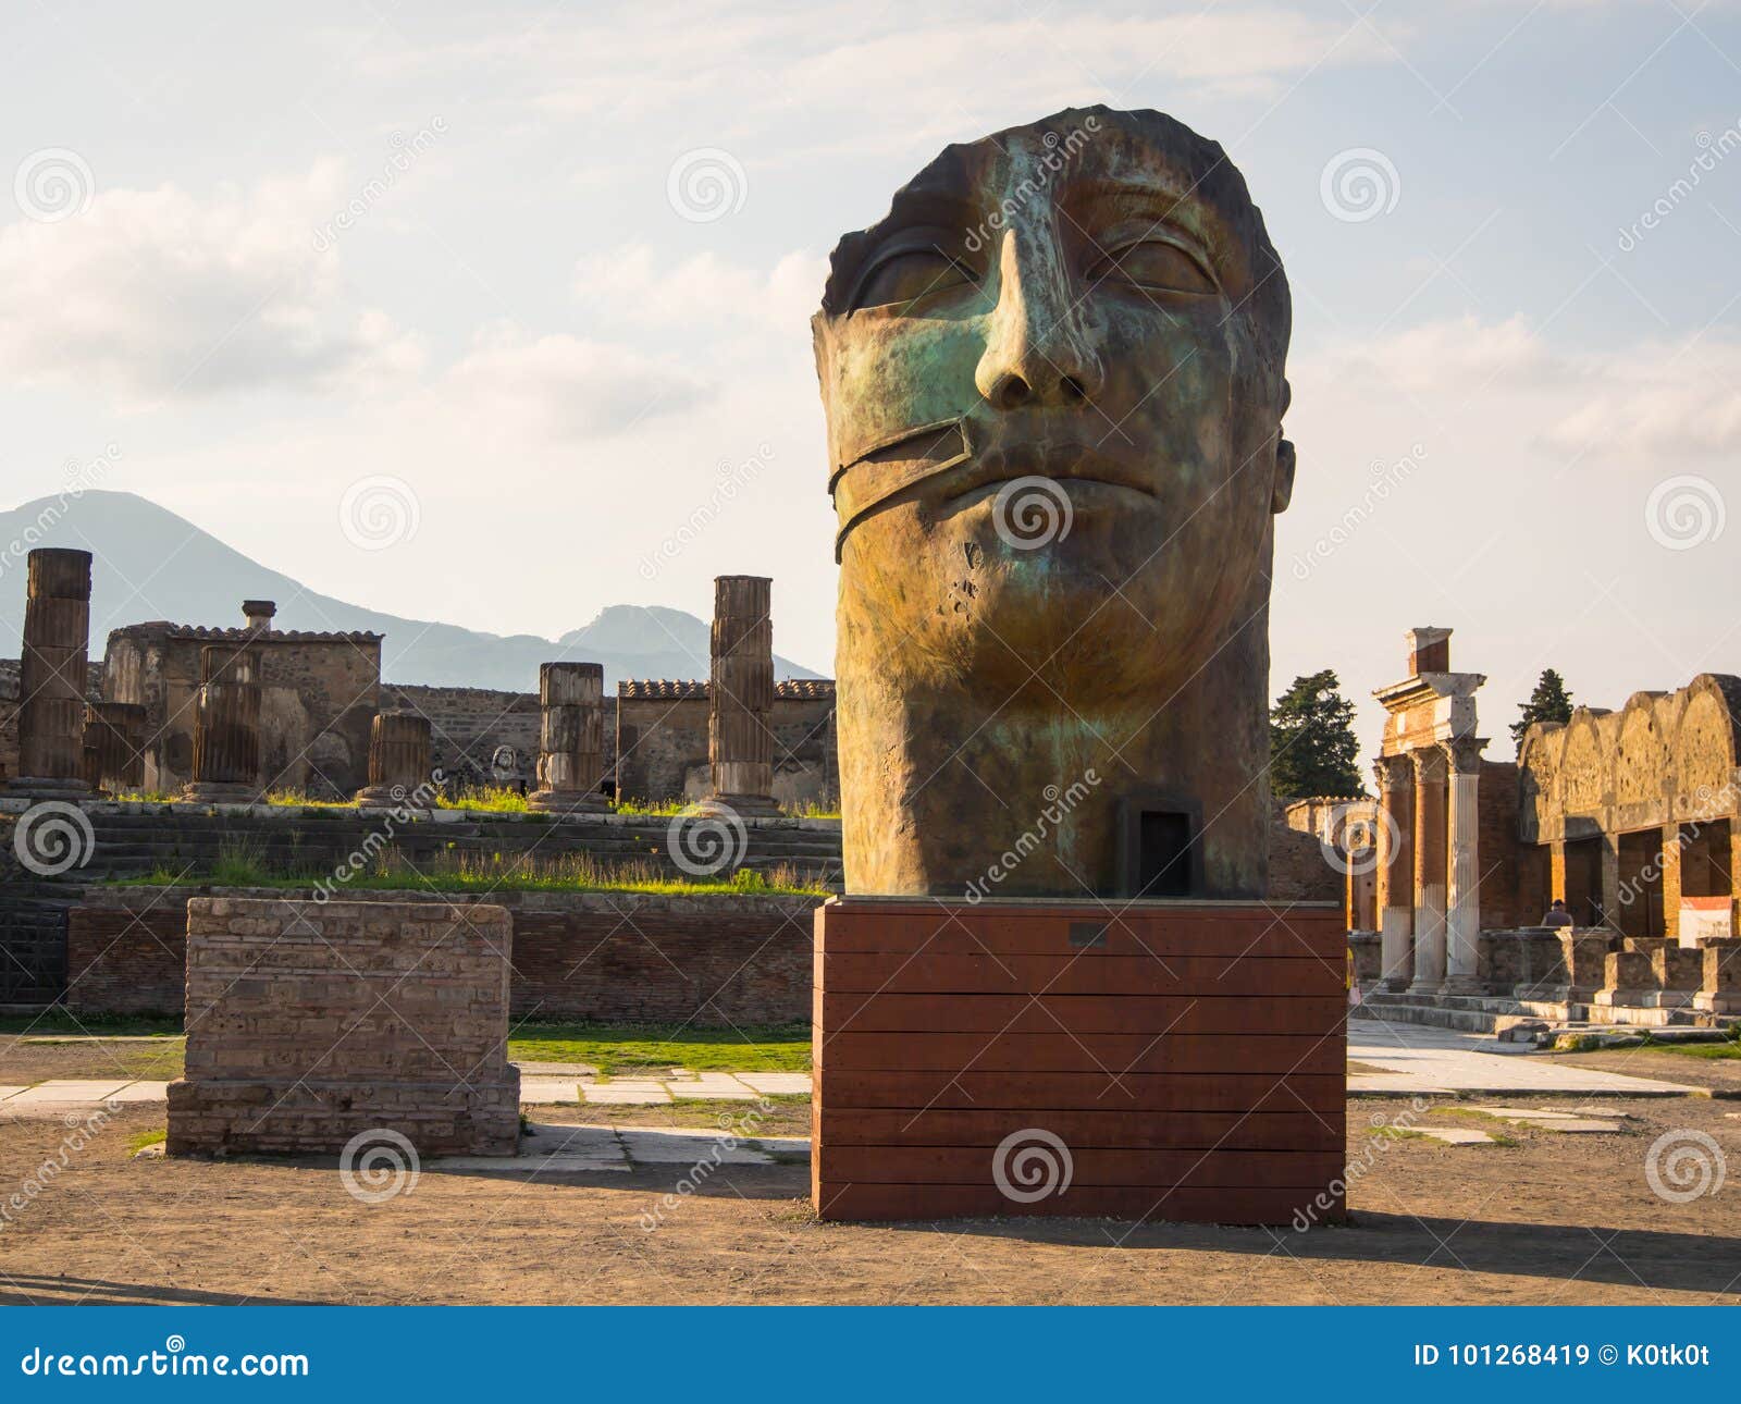
POLYGON ((1515 1092, 1673 1097, 1697 1092, 1678 1082, 1600 1073, 1530 1050, 1529 1043, 1501 1043, 1478 1033, 1391 1024, 1382 1019, 1348 1021, 1348 1059, 1382 1068, 1382 1073, 1353 1073, 1349 1092, 1419 1097, 1447 1092, 1515 1092))

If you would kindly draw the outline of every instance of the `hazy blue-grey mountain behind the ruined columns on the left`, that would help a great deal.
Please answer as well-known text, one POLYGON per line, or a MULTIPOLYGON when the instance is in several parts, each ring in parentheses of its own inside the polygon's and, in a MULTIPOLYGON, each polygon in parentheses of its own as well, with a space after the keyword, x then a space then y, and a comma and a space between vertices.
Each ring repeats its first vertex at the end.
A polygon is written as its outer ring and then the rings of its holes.
MULTIPOLYGON (((91 657, 103 655, 111 629, 146 620, 239 625, 244 599, 273 599, 277 629, 383 634, 381 676, 388 683, 533 692, 538 664, 604 664, 606 690, 623 678, 705 678, 707 620, 646 604, 611 604, 592 624, 561 639, 484 634, 453 624, 400 618, 317 594, 174 512, 134 493, 87 491, 40 498, 0 512, 0 655, 17 653, 24 625, 24 556, 35 545, 89 550, 91 657)), ((775 657, 780 678, 815 678, 775 657)))

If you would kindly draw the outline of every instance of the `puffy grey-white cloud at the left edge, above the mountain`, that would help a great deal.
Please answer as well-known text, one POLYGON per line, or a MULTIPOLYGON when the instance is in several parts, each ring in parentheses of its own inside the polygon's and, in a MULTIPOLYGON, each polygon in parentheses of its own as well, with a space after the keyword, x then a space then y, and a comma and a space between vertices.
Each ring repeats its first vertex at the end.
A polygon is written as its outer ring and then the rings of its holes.
POLYGON ((226 390, 331 390, 416 371, 418 341, 346 307, 313 230, 341 167, 221 186, 106 190, 57 223, 0 228, 0 373, 94 383, 138 406, 226 390))

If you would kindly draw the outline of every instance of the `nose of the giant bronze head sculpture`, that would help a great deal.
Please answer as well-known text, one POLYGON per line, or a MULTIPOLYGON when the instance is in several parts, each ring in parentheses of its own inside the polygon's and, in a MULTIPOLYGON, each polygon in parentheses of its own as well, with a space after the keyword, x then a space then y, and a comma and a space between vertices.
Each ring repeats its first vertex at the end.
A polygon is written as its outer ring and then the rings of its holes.
POLYGON ((978 392, 996 409, 1079 406, 1099 397, 1104 378, 1086 307, 1071 293, 1057 242, 1008 230, 998 307, 973 376, 978 392))

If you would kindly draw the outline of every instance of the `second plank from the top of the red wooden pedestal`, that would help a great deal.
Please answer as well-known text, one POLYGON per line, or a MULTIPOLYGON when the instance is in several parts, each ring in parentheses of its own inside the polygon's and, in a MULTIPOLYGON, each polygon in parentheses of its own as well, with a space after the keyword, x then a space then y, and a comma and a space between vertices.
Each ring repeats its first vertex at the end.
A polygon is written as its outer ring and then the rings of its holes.
POLYGON ((1055 956, 817 953, 823 993, 930 995, 1243 995, 1325 996, 1344 991, 1344 965, 1321 960, 1220 956, 1055 956))

